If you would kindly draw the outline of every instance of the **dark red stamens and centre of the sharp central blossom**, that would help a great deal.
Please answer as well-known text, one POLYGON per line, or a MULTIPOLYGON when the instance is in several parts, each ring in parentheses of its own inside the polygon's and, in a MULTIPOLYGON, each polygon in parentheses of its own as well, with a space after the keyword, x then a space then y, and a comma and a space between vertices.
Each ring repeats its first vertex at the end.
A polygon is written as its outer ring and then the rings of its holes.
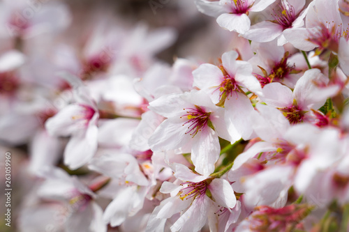
POLYGON ((207 113, 204 109, 198 107, 197 105, 195 105, 195 108, 186 108, 184 110, 186 110, 186 114, 181 116, 181 118, 187 117, 188 121, 186 121, 183 126, 188 126, 186 134, 190 134, 194 137, 207 125, 209 122, 209 115, 211 113, 207 113))

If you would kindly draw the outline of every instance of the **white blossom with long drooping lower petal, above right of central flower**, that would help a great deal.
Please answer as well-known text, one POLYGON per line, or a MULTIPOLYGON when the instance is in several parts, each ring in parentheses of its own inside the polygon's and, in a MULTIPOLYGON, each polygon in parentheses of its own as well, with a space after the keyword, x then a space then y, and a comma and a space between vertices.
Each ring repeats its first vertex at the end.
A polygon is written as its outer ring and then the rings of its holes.
POLYGON ((232 143, 241 138, 250 139, 253 132, 250 118, 254 109, 242 88, 261 93, 251 64, 238 61, 237 57, 235 51, 225 52, 219 67, 204 63, 193 71, 193 85, 208 93, 216 105, 225 107, 225 123, 231 137, 228 140, 232 143))

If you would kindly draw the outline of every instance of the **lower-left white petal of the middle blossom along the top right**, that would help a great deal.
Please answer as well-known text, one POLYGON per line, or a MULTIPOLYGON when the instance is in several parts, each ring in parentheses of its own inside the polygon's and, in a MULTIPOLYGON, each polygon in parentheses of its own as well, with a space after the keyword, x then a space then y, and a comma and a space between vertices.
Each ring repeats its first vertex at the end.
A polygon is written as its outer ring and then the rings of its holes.
POLYGON ((274 22, 263 21, 251 26, 244 38, 255 42, 269 42, 280 36, 283 32, 283 27, 274 22))

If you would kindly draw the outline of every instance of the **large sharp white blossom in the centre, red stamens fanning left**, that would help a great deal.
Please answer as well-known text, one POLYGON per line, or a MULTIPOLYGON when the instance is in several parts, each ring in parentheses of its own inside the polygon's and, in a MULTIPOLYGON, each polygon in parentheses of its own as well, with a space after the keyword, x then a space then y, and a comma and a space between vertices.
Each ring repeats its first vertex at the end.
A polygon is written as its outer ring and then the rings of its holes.
POLYGON ((149 138, 151 150, 181 148, 191 152, 195 171, 204 175, 214 171, 220 151, 218 136, 229 138, 223 109, 202 91, 165 95, 150 102, 149 109, 167 118, 149 138))

